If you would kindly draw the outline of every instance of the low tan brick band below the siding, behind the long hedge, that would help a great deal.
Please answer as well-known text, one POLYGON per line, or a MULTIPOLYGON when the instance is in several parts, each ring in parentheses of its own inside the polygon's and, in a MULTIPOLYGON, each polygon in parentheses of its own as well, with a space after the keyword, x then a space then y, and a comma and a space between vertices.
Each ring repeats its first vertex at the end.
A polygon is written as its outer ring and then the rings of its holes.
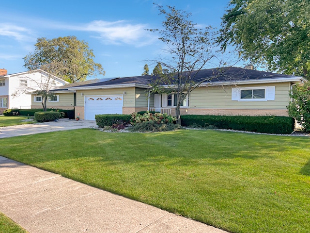
POLYGON ((289 116, 286 109, 204 109, 188 108, 189 115, 289 116))

